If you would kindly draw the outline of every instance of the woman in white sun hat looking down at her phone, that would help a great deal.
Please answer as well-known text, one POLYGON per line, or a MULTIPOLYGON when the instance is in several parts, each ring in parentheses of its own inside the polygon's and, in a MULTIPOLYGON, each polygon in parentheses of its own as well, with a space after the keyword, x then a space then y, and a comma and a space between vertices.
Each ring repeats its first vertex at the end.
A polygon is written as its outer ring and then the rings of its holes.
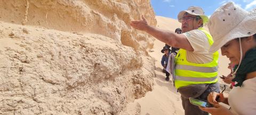
POLYGON ((221 54, 236 64, 232 74, 236 84, 228 97, 210 93, 207 100, 214 107, 200 109, 213 115, 256 114, 256 9, 247 12, 234 3, 227 3, 212 14, 208 28, 214 40, 210 51, 221 48, 221 54))

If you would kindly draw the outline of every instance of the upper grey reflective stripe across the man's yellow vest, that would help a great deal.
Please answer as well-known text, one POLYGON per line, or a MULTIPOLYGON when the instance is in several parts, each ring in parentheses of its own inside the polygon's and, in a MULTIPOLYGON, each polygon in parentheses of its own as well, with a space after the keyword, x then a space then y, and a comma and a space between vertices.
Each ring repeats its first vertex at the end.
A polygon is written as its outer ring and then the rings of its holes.
POLYGON ((218 71, 218 67, 195 67, 191 65, 175 65, 175 69, 183 69, 183 70, 206 72, 206 73, 218 71))

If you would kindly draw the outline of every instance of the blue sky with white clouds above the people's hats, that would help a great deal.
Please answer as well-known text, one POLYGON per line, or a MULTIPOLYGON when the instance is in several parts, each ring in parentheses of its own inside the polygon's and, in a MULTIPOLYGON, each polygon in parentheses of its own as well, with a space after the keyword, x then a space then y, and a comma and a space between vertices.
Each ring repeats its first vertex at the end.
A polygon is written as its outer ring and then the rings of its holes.
MULTIPOLYGON (((220 0, 150 0, 156 15, 177 19, 177 15, 182 10, 187 10, 189 6, 199 6, 210 16, 219 6, 230 2, 220 0)), ((250 11, 256 7, 256 0, 232 0, 243 9, 250 11)))

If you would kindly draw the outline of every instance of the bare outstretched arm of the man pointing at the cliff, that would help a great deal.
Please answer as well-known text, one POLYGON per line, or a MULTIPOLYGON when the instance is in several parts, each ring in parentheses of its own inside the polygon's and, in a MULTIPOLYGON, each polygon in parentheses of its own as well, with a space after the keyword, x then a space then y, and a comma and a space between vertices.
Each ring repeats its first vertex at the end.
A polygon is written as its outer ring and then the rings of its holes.
POLYGON ((146 19, 142 15, 142 20, 140 21, 131 21, 131 26, 135 29, 145 31, 151 36, 154 36, 158 40, 172 46, 183 48, 187 51, 194 51, 194 48, 188 42, 188 39, 185 35, 175 34, 175 32, 157 29, 155 27, 149 26, 146 19))

